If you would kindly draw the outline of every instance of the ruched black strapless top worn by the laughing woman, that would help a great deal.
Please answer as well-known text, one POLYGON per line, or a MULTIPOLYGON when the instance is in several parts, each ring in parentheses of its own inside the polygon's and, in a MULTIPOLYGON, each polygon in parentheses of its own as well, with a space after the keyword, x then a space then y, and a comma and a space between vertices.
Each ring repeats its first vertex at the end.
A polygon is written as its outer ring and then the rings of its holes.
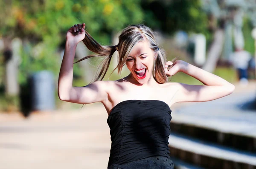
POLYGON ((127 100, 108 116, 111 150, 108 166, 148 157, 169 157, 171 110, 159 100, 127 100))

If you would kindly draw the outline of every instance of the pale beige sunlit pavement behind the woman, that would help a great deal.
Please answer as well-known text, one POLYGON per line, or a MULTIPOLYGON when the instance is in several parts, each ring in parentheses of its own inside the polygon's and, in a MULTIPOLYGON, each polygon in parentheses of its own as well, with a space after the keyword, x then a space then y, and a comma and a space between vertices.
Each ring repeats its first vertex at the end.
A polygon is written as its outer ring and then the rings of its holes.
MULTIPOLYGON (((242 99, 243 93, 250 91, 253 96, 255 82, 247 87, 236 85, 233 94, 242 99)), ((180 106, 186 104, 174 105, 174 114, 180 106)), ((32 113, 29 118, 0 113, 0 169, 107 168, 111 146, 107 118, 101 104, 86 105, 81 110, 32 113)))

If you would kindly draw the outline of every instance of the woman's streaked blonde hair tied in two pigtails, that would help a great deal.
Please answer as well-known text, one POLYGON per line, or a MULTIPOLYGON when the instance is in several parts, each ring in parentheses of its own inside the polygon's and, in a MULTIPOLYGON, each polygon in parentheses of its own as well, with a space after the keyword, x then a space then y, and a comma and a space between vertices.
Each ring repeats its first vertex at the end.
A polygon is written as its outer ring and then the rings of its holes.
MULTIPOLYGON (((168 81, 168 77, 166 76, 164 66, 166 62, 166 53, 163 49, 160 49, 157 45, 155 40, 155 34, 145 25, 130 25, 126 27, 119 36, 119 43, 118 43, 118 65, 114 70, 118 70, 118 73, 121 73, 123 66, 125 65, 125 61, 130 54, 131 50, 133 49, 134 45, 138 42, 148 41, 149 47, 153 51, 154 54, 157 54, 157 58, 155 60, 155 72, 154 72, 154 79, 163 84, 168 81)), ((94 81, 102 80, 109 68, 110 61, 112 58, 113 53, 116 51, 116 46, 102 46, 98 42, 96 42, 93 37, 85 32, 85 37, 83 39, 84 45, 94 52, 95 54, 88 55, 77 62, 80 62, 84 59, 88 59, 90 57, 98 57, 103 56, 105 57, 103 61, 99 64, 94 81)), ((77 63, 75 62, 75 63, 77 63)), ((114 71, 113 70, 113 71, 114 71)))

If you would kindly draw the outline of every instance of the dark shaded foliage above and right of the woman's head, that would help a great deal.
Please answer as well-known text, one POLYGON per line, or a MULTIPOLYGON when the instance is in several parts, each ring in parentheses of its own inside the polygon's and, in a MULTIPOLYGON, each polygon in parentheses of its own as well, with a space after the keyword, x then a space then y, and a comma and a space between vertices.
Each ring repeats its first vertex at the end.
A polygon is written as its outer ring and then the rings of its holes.
POLYGON ((208 32, 207 14, 202 9, 201 0, 143 0, 145 10, 145 23, 153 29, 165 33, 175 33, 182 30, 186 32, 208 32), (151 23, 155 18, 157 23, 151 23))

